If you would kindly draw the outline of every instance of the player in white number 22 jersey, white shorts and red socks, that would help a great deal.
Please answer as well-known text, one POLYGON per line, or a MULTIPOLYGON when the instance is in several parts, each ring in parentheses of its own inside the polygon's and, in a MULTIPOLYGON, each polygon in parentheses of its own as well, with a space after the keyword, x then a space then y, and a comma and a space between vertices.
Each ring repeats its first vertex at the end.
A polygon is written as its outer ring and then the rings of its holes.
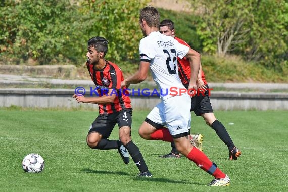
POLYGON ((217 168, 216 164, 212 163, 203 152, 193 148, 189 139, 190 96, 187 92, 181 92, 185 87, 178 77, 176 62, 177 56, 180 58, 185 56, 189 59, 191 77, 188 90, 197 90, 196 80, 200 68, 200 54, 178 43, 172 37, 158 32, 160 14, 157 9, 143 8, 139 18, 139 24, 145 36, 140 41, 139 69, 133 76, 122 81, 121 86, 128 87, 132 83, 145 80, 150 69, 158 87, 161 90, 168 90, 168 94, 162 95, 161 102, 153 108, 140 126, 139 135, 147 140, 174 141, 176 149, 181 154, 215 177, 209 185, 229 185, 230 178, 217 168), (168 129, 163 127, 164 125, 168 129))

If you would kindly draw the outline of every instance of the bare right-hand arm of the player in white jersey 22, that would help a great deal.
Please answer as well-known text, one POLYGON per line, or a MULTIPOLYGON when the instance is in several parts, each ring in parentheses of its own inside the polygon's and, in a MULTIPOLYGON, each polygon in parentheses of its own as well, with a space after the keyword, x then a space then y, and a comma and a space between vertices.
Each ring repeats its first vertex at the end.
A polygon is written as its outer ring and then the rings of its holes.
POLYGON ((191 68, 190 83, 188 89, 194 88, 195 90, 197 90, 197 78, 201 64, 200 54, 190 48, 185 57, 189 59, 191 68))

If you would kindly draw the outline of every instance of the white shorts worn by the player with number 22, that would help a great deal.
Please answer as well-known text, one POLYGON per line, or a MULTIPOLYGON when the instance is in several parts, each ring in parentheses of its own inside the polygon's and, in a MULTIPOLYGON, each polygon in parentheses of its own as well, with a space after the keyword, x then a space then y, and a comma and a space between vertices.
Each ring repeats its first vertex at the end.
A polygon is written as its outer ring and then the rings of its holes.
POLYGON ((157 104, 147 115, 151 121, 167 126, 171 135, 186 133, 191 127, 191 98, 173 96, 157 104))

